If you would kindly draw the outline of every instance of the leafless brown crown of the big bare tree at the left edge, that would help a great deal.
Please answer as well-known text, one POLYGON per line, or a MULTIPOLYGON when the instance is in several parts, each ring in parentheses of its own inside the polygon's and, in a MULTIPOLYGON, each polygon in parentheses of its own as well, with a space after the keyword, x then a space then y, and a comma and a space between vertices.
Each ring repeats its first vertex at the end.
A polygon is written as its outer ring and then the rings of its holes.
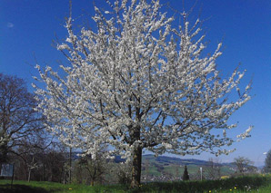
POLYGON ((34 94, 27 92, 25 81, 0 73, 0 164, 8 153, 26 145, 35 148, 45 137, 43 119, 34 110, 34 94))

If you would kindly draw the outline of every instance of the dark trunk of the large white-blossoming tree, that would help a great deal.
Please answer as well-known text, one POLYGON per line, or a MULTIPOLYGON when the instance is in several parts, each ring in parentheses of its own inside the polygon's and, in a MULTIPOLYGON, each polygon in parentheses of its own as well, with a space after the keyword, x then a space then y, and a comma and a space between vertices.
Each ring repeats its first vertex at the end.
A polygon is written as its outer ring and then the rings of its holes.
POLYGON ((131 188, 137 188, 140 185, 141 177, 141 161, 142 161, 142 149, 135 149, 135 154, 132 163, 132 181, 131 188))

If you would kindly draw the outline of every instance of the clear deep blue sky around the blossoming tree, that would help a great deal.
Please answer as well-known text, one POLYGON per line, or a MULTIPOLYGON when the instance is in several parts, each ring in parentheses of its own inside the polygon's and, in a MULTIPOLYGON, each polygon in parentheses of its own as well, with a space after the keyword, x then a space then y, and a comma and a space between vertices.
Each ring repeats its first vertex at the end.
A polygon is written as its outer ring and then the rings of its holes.
MULTIPOLYGON (((103 0, 95 0, 104 6, 103 0)), ((183 11, 181 0, 170 2, 183 11)), ((185 0, 188 10, 195 1, 185 0), (192 2, 192 3, 191 3, 192 2)), ((168 10, 168 12, 171 12, 168 10)), ((57 70, 57 61, 65 63, 62 53, 52 46, 56 37, 65 39, 65 16, 68 0, 1 0, 0 1, 0 72, 24 78, 31 89, 32 76, 37 75, 36 61, 57 70)), ((198 0, 190 18, 200 13, 206 19, 203 28, 210 51, 223 42, 223 55, 217 60, 218 69, 227 75, 238 63, 247 70, 244 83, 253 78, 251 101, 237 111, 231 121, 239 121, 232 134, 236 135, 254 125, 252 137, 235 143, 236 152, 221 156, 223 162, 245 156, 263 165, 264 152, 271 149, 271 1, 269 0, 198 0), (200 11, 201 10, 201 11, 200 11)), ((84 20, 82 14, 93 15, 93 0, 74 0, 75 21, 84 20)), ((90 23, 91 24, 91 23, 90 23)), ((209 154, 186 157, 208 159, 209 154)))

